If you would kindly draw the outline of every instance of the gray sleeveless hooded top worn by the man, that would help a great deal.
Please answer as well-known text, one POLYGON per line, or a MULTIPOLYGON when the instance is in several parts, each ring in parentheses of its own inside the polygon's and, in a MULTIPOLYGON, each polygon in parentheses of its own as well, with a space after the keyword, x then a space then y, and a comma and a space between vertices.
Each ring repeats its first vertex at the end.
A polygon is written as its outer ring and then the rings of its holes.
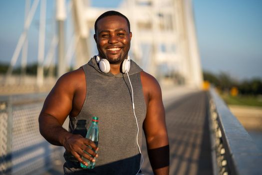
MULTIPOLYGON (((87 128, 92 116, 99 117, 99 143, 94 169, 79 168, 65 152, 64 167, 81 174, 135 174, 140 165, 140 153, 136 142, 137 125, 132 108, 132 91, 126 73, 113 75, 101 72, 95 58, 82 66, 86 78, 86 96, 81 111, 70 117, 72 132, 79 119, 85 119, 87 128), (87 173, 89 172, 89 173, 87 173)), ((138 119, 138 143, 142 146, 142 125, 146 104, 140 79, 142 69, 131 61, 129 77, 134 91, 135 113, 138 119)), ((66 171, 65 171, 66 173, 66 171)))

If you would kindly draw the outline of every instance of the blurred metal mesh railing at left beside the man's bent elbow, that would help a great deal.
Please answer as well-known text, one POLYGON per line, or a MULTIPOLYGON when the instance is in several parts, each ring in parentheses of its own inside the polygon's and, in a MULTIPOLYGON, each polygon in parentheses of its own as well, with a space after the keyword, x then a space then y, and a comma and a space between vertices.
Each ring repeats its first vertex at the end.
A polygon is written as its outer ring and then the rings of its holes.
POLYGON ((46 93, 0 96, 0 174, 40 174, 63 148, 39 133, 38 115, 46 93))

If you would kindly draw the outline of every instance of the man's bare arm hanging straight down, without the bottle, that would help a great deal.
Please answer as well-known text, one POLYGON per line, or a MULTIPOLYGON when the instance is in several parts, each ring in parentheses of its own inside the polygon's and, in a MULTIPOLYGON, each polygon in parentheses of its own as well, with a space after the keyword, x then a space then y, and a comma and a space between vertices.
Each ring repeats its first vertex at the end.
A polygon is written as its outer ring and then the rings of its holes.
POLYGON ((143 123, 149 160, 154 174, 169 174, 169 141, 165 122, 162 93, 157 80, 148 73, 141 72, 143 92, 147 104, 147 114, 143 123), (159 156, 161 153, 163 156, 159 156))

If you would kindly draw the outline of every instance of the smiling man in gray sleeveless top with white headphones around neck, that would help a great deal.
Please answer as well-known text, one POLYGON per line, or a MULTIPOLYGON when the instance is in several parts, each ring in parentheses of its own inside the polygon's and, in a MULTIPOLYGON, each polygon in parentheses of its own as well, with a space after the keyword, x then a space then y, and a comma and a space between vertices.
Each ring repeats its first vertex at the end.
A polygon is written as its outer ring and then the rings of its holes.
POLYGON ((161 88, 153 76, 127 59, 131 38, 126 16, 117 11, 101 14, 94 34, 99 56, 62 75, 44 102, 40 132, 50 143, 64 146, 65 174, 136 174, 142 128, 154 173, 169 173, 161 88), (102 58, 108 63, 100 65, 102 58), (62 128, 68 115, 69 132, 62 128), (72 134, 78 120, 88 123, 92 116, 99 117, 99 150, 91 140, 72 134), (95 167, 81 168, 79 162, 87 164, 82 157, 95 161, 95 167))

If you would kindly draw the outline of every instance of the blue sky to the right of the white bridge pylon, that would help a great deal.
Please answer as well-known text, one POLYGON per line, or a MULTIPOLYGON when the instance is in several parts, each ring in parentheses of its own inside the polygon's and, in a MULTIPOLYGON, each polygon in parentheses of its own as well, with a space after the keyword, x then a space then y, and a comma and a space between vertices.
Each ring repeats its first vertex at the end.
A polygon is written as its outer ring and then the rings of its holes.
POLYGON ((204 70, 262 78, 262 0, 194 0, 204 70))

